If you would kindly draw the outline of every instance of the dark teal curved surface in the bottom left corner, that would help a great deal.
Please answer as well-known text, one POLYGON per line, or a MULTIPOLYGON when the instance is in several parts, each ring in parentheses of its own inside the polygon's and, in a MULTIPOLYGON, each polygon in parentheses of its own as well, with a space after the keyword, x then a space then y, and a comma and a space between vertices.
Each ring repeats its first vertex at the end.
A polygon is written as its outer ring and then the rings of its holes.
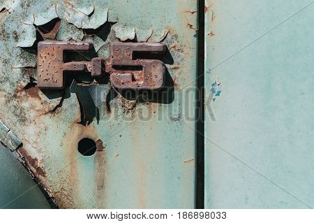
POLYGON ((30 173, 0 145, 0 208, 50 208, 30 173))

